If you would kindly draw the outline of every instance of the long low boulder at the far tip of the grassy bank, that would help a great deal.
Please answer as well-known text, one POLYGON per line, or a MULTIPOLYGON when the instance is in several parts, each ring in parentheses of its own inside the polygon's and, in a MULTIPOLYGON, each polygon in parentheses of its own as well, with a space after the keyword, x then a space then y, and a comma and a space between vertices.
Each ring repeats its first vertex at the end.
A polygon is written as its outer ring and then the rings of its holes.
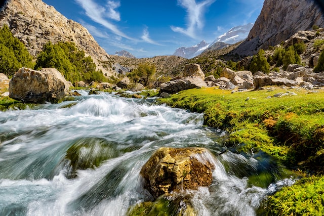
POLYGON ((160 84, 160 93, 174 94, 183 90, 207 87, 206 82, 199 77, 185 77, 160 84))

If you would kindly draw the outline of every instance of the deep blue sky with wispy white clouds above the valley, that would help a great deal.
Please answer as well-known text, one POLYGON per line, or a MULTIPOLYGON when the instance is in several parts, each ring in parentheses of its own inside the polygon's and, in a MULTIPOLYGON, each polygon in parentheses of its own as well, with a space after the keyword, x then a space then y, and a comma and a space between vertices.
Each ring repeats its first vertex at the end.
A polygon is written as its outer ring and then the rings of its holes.
POLYGON ((254 23, 264 0, 43 0, 85 26, 108 54, 172 55, 254 23))

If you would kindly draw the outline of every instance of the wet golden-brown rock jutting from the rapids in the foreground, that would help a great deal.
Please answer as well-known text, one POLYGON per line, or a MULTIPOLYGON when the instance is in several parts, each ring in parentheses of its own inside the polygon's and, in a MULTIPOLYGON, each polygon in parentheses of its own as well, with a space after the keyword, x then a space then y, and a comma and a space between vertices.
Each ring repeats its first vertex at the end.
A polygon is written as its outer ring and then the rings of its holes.
POLYGON ((212 184, 212 154, 204 148, 159 148, 141 169, 144 187, 155 198, 212 184))

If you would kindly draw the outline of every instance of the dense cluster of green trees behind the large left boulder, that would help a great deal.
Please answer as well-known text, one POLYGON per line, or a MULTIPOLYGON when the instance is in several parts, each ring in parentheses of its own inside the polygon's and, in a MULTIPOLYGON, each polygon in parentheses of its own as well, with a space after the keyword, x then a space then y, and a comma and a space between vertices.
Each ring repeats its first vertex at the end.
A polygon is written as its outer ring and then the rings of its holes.
POLYGON ((90 56, 85 57, 85 52, 80 51, 72 42, 50 42, 44 45, 43 51, 38 54, 35 69, 42 67, 57 68, 66 78, 75 84, 83 80, 102 82, 106 78, 101 70, 96 70, 96 64, 90 56))

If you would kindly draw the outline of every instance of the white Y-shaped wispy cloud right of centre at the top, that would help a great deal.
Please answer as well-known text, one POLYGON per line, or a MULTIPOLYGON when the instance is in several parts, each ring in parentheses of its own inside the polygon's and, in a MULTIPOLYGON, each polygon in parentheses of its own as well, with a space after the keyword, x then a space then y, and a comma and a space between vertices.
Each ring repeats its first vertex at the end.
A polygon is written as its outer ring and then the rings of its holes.
POLYGON ((171 26, 175 32, 183 33, 189 37, 196 38, 196 30, 204 27, 204 12, 216 0, 205 0, 196 3, 195 0, 178 0, 178 4, 187 11, 187 28, 171 26))

